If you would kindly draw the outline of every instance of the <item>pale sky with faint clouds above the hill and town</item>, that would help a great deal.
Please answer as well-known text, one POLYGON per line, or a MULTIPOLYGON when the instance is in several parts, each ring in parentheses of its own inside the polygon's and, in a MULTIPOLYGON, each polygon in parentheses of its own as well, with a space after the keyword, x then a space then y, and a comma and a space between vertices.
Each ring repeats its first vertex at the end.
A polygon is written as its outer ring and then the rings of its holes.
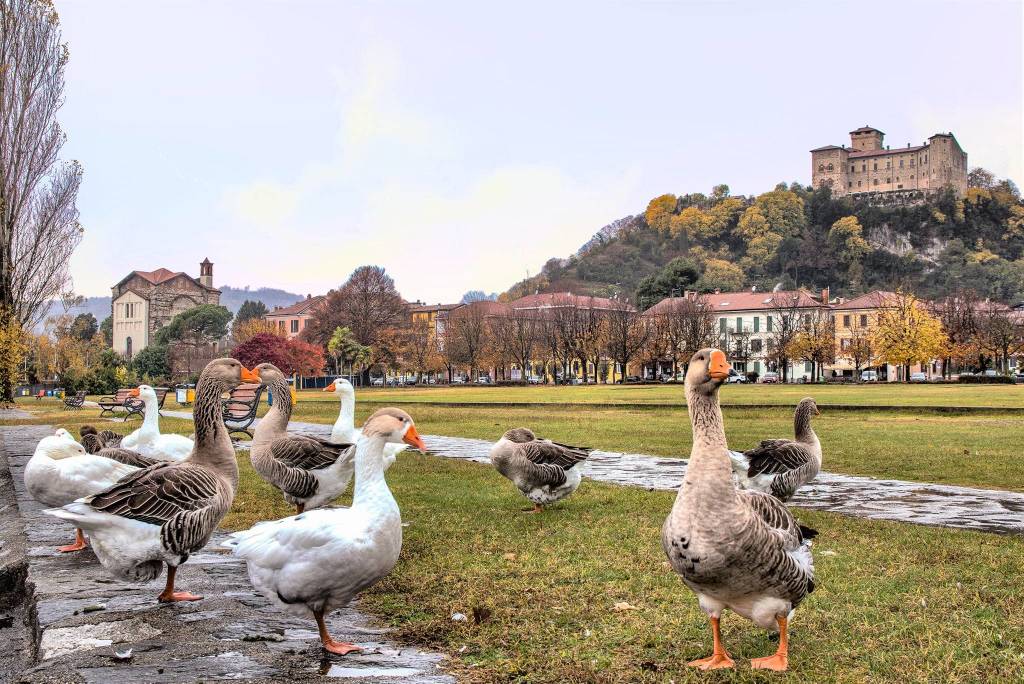
POLYGON ((1020 1, 56 5, 83 295, 204 257, 501 292, 656 195, 810 182, 864 124, 1024 184, 1020 1))

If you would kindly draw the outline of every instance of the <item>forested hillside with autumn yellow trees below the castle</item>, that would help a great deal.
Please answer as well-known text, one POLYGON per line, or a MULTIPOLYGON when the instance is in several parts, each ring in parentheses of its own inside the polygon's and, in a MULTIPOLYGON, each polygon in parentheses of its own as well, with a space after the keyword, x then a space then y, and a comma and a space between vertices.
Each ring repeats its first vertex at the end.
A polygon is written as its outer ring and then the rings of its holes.
MULTIPOLYGON (((970 289, 1024 299, 1024 204, 1016 185, 983 169, 913 206, 834 199, 828 188, 780 183, 757 197, 727 185, 654 198, 637 216, 598 231, 577 254, 551 259, 507 297, 571 291, 643 300, 683 288, 872 289, 937 297, 970 289)), ((637 301, 637 303, 641 303, 637 301)))

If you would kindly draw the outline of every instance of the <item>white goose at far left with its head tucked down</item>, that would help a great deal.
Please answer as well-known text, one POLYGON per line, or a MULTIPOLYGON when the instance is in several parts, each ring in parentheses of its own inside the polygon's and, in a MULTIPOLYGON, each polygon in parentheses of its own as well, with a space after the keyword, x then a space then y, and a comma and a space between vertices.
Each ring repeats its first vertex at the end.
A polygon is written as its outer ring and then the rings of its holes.
MULTIPOLYGON (((43 437, 25 466, 25 488, 46 506, 63 506, 76 499, 102 491, 138 468, 88 454, 67 430, 43 437), (61 434, 62 433, 62 434, 61 434)), ((75 543, 57 548, 60 553, 81 551, 86 546, 82 528, 75 543)))

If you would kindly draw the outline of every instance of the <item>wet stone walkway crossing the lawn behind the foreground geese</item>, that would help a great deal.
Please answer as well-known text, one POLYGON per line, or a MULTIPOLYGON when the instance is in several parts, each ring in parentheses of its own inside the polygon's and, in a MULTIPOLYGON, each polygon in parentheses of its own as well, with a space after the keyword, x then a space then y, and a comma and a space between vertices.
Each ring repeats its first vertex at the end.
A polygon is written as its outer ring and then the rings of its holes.
MULTIPOLYGON (((176 418, 190 417, 185 412, 164 413, 176 418)), ((319 423, 293 422, 289 429, 322 437, 331 433, 330 425, 319 423)), ((490 442, 483 439, 436 435, 425 435, 423 439, 437 456, 489 463, 490 442)), ((602 482, 674 490, 683 481, 686 460, 595 451, 586 461, 583 473, 602 482)), ((999 489, 820 473, 792 503, 873 520, 1001 535, 1024 533, 1024 494, 999 489)))

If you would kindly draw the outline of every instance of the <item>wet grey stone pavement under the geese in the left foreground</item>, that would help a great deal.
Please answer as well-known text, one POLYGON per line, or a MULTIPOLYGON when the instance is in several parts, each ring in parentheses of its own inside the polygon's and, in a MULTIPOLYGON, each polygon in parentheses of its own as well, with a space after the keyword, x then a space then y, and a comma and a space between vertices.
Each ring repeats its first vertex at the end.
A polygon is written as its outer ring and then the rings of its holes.
POLYGON ((67 523, 42 513, 25 491, 23 470, 45 426, 0 428, 27 537, 29 582, 40 631, 38 662, 12 682, 454 682, 443 656, 387 640, 358 610, 336 611, 332 634, 366 650, 326 656, 315 624, 286 615, 252 591, 244 564, 218 549, 223 536, 178 573, 179 589, 204 595, 160 605, 163 578, 147 585, 113 579, 91 551, 58 554, 67 523), (125 654, 130 650, 130 656, 125 654), (118 654, 122 654, 119 657, 118 654))

